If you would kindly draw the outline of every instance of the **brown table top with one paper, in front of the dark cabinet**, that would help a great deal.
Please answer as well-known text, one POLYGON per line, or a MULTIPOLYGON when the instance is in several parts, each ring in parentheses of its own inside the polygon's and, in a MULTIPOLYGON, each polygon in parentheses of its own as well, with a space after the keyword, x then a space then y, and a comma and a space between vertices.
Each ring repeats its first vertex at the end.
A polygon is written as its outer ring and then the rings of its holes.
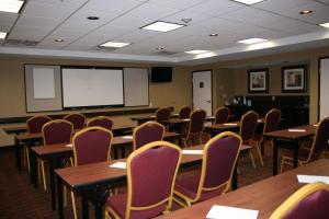
POLYGON ((284 139, 298 139, 313 136, 317 129, 317 125, 304 125, 282 130, 275 130, 264 134, 265 137, 284 138, 284 139))

